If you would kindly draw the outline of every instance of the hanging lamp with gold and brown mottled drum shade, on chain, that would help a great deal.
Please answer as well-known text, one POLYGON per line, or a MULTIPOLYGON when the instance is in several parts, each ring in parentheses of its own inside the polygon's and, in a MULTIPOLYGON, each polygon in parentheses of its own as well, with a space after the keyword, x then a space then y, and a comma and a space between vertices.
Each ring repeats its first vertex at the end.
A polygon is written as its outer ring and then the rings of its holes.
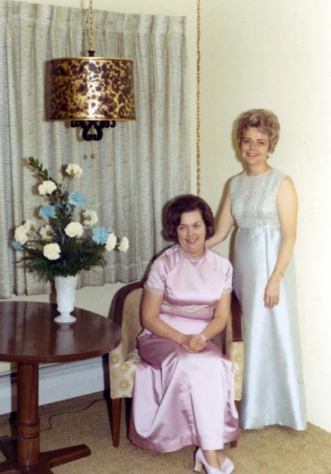
POLYGON ((133 63, 95 57, 93 0, 89 0, 88 56, 50 60, 48 120, 70 121, 84 140, 101 140, 117 120, 135 120, 133 63))

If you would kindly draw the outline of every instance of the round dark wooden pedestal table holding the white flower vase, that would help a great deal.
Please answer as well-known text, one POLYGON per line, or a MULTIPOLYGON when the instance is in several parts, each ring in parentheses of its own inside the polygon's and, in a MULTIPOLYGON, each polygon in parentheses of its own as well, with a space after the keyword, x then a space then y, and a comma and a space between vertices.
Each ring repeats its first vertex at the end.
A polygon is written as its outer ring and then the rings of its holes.
POLYGON ((0 302, 0 361, 17 363, 17 438, 0 438, 0 473, 50 474, 51 467, 88 456, 85 444, 39 452, 39 363, 80 361, 120 344, 121 329, 99 314, 75 308, 73 325, 58 325, 57 305, 0 302))

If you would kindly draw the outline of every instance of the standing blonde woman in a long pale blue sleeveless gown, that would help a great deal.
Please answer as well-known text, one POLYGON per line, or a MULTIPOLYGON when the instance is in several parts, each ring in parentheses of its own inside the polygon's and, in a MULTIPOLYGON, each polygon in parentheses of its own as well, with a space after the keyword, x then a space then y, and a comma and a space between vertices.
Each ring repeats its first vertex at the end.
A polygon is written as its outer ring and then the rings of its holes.
POLYGON ((223 241, 236 224, 234 291, 243 312, 245 371, 240 426, 304 430, 296 282, 292 258, 297 197, 292 179, 268 164, 279 138, 274 113, 253 109, 238 120, 245 171, 231 179, 216 228, 223 241))

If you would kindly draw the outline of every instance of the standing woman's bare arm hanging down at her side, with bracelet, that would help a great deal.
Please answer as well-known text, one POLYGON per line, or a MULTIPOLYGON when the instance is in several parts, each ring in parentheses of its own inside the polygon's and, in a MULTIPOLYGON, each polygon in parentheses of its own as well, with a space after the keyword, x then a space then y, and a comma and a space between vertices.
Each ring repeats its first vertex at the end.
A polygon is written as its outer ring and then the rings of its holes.
POLYGON ((278 304, 281 293, 282 273, 293 255, 296 240, 296 220, 298 215, 298 197, 292 179, 288 176, 281 182, 277 196, 278 214, 281 221, 281 248, 279 249, 276 266, 269 277, 265 288, 265 306, 272 308, 278 304), (276 300, 276 303, 272 301, 276 300))

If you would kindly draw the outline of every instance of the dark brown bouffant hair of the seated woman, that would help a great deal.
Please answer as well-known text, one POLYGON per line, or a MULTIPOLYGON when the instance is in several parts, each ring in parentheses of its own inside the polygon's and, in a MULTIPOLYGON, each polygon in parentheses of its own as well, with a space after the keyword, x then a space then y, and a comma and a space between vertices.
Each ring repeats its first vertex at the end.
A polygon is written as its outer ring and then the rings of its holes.
POLYGON ((165 239, 178 242, 177 228, 180 225, 182 213, 192 210, 200 211, 206 226, 206 239, 214 235, 214 216, 206 201, 194 194, 182 194, 169 201, 164 207, 163 235, 165 239))

